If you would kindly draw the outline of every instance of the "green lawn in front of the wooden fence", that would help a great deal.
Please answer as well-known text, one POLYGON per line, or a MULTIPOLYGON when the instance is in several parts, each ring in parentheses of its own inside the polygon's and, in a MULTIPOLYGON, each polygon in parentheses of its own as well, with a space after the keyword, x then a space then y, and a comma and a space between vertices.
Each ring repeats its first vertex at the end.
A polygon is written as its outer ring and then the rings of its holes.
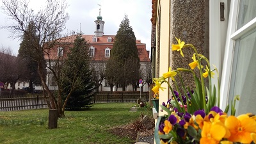
POLYGON ((48 129, 49 109, 0 112, 0 143, 134 143, 108 130, 152 115, 146 108, 129 112, 134 103, 94 104, 85 111, 65 111, 57 129, 48 129))

